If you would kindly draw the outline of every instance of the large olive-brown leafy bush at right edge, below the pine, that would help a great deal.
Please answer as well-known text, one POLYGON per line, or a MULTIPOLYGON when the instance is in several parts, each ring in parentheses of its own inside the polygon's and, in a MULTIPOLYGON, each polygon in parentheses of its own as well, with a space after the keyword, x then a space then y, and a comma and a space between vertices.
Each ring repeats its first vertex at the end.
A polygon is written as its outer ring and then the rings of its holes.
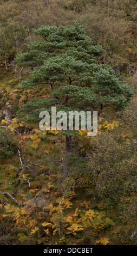
POLYGON ((95 141, 97 147, 89 163, 95 202, 105 202, 109 209, 118 205, 120 211, 134 215, 136 143, 125 143, 118 131, 100 135, 95 141))

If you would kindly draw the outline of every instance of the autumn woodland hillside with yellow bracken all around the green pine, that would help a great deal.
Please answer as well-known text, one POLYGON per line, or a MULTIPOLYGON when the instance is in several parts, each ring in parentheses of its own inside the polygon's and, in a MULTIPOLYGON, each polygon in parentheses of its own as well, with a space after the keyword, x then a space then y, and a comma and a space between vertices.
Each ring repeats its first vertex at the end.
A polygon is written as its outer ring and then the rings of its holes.
POLYGON ((135 0, 1 0, 1 245, 136 245, 136 20, 135 0), (15 57, 36 40, 33 29, 74 21, 134 96, 123 110, 103 109, 97 136, 80 130, 73 137, 63 179, 65 137, 16 118, 48 92, 18 89, 30 70, 15 57))

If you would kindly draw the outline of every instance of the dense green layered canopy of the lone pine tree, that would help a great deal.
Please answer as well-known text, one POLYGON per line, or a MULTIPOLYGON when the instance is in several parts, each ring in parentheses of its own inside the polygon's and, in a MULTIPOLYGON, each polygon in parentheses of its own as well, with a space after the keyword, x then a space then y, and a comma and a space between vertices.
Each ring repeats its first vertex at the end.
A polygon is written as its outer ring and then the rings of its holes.
MULTIPOLYGON (((27 121, 37 121, 40 111, 93 111, 110 104, 118 109, 129 102, 133 91, 115 76, 108 64, 100 64, 100 45, 92 45, 83 27, 41 26, 34 29, 38 40, 28 45, 28 52, 18 54, 16 62, 29 66, 30 79, 21 89, 48 86, 49 95, 27 102, 17 112, 27 113, 27 121)), ((23 118, 24 119, 24 118, 23 118)))

